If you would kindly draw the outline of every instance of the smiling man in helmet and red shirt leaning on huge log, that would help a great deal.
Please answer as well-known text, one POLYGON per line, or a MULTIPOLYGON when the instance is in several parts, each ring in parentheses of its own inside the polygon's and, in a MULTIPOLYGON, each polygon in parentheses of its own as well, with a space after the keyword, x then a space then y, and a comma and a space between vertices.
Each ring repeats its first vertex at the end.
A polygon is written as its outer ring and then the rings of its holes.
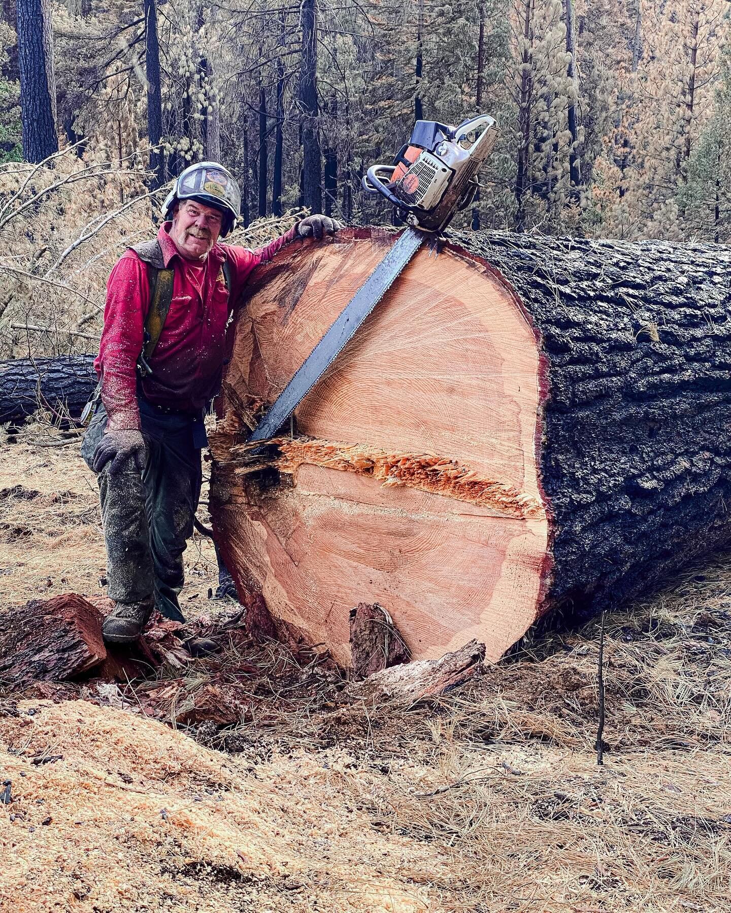
POLYGON ((183 551, 201 487, 204 414, 217 394, 226 326, 252 270, 296 237, 339 227, 310 215, 257 250, 218 243, 236 225, 238 185, 217 163, 191 165, 164 203, 154 241, 111 270, 99 356, 101 394, 82 455, 98 474, 115 607, 112 643, 135 640, 154 608, 184 621, 183 551))

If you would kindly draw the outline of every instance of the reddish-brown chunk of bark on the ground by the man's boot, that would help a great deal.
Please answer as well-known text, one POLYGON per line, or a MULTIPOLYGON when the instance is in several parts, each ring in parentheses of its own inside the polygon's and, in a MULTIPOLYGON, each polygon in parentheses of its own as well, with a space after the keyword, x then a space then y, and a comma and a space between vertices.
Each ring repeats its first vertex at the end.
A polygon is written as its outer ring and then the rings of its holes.
POLYGON ((35 600, 5 614, 0 626, 0 687, 64 681, 99 666, 107 651, 101 613, 76 593, 35 600))

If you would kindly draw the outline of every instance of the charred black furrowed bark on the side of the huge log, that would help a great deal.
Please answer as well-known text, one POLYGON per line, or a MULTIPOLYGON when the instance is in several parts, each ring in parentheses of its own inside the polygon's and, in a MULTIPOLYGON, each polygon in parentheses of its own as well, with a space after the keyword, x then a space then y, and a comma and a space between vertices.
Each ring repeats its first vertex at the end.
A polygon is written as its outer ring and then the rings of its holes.
POLYGON ((731 250, 451 232, 537 331, 546 607, 583 617, 731 541, 731 250))

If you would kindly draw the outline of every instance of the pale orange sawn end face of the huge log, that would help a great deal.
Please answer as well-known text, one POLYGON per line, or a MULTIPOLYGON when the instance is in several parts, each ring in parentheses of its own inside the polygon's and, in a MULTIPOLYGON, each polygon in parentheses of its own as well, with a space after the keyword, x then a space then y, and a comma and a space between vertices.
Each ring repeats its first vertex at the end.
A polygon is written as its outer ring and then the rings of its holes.
POLYGON ((416 658, 476 637, 496 659, 540 613, 548 528, 535 331, 489 268, 420 251, 265 473, 242 446, 244 404, 281 392, 383 254, 380 237, 345 232, 261 270, 211 441, 218 539, 242 588, 344 666, 362 602, 416 658))

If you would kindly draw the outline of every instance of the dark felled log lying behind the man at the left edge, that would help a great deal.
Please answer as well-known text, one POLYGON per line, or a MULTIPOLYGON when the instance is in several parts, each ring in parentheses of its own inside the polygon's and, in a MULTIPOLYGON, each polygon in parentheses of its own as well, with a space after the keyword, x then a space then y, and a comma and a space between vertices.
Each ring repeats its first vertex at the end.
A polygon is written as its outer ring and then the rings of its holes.
POLYGON ((0 362, 0 424, 16 425, 45 407, 79 418, 97 383, 93 355, 0 362))

